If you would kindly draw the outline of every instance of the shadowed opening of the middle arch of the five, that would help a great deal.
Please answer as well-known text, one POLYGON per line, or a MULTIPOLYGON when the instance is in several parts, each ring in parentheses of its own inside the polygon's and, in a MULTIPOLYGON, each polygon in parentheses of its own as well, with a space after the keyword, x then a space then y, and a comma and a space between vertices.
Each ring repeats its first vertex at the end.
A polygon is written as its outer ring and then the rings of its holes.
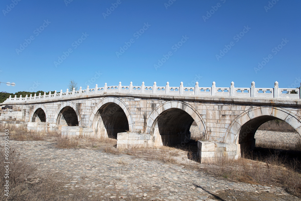
POLYGON ((98 109, 94 117, 95 133, 98 137, 117 139, 117 133, 129 130, 129 122, 123 109, 109 102, 98 109))

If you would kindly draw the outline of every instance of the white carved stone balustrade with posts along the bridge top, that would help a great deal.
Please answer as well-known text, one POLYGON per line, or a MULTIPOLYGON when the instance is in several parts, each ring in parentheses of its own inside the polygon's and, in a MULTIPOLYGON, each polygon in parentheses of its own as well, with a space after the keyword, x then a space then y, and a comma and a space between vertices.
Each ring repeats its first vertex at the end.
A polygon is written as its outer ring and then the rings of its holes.
POLYGON ((133 86, 132 82, 129 86, 122 86, 121 82, 119 82, 118 86, 107 86, 107 83, 103 87, 98 87, 95 85, 95 88, 89 88, 87 86, 86 89, 82 89, 80 87, 79 90, 75 90, 73 88, 72 91, 68 89, 66 92, 61 90, 60 93, 55 91, 53 94, 49 92, 49 94, 44 93, 44 95, 37 96, 34 94, 30 94, 28 97, 20 97, 15 96, 12 98, 9 96, 3 103, 18 103, 18 102, 31 102, 31 101, 43 101, 49 99, 61 99, 64 97, 81 97, 81 96, 89 96, 94 94, 105 94, 105 93, 136 93, 136 94, 166 94, 166 95, 183 95, 183 96, 222 96, 222 97, 260 97, 260 98, 281 98, 281 99, 300 99, 300 89, 299 88, 279 88, 278 82, 276 81, 274 84, 274 88, 256 88, 255 82, 251 83, 250 88, 239 88, 234 87, 234 82, 231 82, 230 87, 216 87, 216 83, 213 82, 211 87, 199 87, 199 83, 195 83, 195 87, 185 87, 183 86, 183 82, 180 83, 179 87, 171 87, 169 86, 169 82, 166 83, 166 86, 157 86, 157 83, 154 82, 153 86, 145 86, 144 82, 142 82, 141 86, 133 86), (291 92, 296 93, 291 93, 291 92), (284 93, 286 92, 286 93, 284 93))

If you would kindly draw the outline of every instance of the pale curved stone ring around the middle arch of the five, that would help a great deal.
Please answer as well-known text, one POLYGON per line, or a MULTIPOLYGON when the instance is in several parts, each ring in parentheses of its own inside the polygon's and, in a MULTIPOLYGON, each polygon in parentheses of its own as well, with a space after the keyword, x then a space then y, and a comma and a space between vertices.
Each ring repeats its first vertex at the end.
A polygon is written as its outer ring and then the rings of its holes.
POLYGON ((133 132, 134 131, 134 121, 132 118, 132 114, 129 111, 129 108, 126 106, 126 104, 117 97, 105 97, 105 98, 101 99, 100 102, 97 103, 97 105, 94 107, 94 109, 92 110, 92 113, 90 115, 88 127, 95 129, 94 128, 95 121, 98 121, 98 120, 96 120, 97 112, 103 105, 105 105, 107 103, 115 103, 116 105, 119 105, 119 107, 123 110, 123 112, 126 115, 126 118, 128 120, 129 132, 133 132))

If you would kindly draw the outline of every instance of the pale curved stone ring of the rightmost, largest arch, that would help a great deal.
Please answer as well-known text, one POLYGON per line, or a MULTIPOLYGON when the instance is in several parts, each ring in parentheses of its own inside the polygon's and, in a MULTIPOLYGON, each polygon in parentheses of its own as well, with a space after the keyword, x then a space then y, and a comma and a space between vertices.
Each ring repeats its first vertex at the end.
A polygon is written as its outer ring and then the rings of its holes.
POLYGON ((254 134, 258 127, 266 121, 273 119, 287 122, 301 137, 301 119, 296 114, 284 108, 254 107, 244 111, 231 122, 225 133, 224 142, 238 144, 240 143, 239 140, 241 140, 241 137, 244 137, 245 141, 248 143, 247 146, 254 148, 255 141, 251 142, 254 140, 252 139, 252 135, 254 138, 254 134))

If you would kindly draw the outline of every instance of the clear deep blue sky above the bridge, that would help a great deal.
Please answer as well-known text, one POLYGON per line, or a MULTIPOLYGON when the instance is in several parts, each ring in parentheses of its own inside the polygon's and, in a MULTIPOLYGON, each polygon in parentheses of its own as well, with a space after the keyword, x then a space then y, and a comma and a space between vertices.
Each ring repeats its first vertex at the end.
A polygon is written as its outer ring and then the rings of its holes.
POLYGON ((168 2, 2 0, 0 81, 16 86, 1 84, 0 91, 66 91, 70 79, 82 88, 119 81, 194 86, 194 80, 199 86, 255 81, 273 87, 276 80, 281 88, 299 86, 300 1, 168 2), (131 46, 123 52, 126 43, 131 46), (60 60, 63 52, 68 56, 60 60))

